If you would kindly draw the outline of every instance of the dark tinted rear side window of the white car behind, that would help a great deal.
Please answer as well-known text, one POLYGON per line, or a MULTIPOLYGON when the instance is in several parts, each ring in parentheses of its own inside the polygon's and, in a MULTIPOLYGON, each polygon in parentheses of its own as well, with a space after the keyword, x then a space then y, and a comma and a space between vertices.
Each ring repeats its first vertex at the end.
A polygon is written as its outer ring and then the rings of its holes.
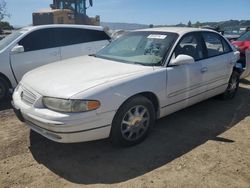
POLYGON ((58 28, 58 35, 61 37, 60 46, 110 40, 110 37, 104 31, 89 29, 58 28))

